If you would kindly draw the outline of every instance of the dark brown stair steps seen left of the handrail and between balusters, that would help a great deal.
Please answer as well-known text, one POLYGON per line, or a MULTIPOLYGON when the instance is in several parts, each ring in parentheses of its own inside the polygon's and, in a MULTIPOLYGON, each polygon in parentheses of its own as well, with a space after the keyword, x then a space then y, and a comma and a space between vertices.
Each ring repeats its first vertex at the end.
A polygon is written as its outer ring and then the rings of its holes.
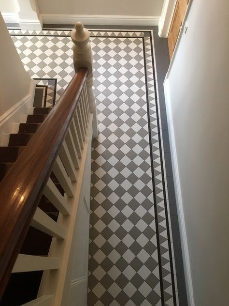
MULTIPOLYGON (((49 107, 32 108, 31 111, 33 114, 27 116, 26 123, 20 123, 18 132, 9 135, 8 146, 0 147, 0 181, 13 166, 17 157, 27 146, 29 140, 43 123, 51 109, 52 108, 49 107)), ((50 178, 63 196, 64 190, 53 172, 50 178)), ((38 207, 54 221, 57 221, 59 212, 44 195, 38 207)), ((47 256, 51 242, 52 237, 50 235, 30 226, 21 247, 20 254, 47 256)), ((0 306, 19 306, 30 300, 36 299, 42 274, 41 271, 12 274, 0 301, 0 306)))

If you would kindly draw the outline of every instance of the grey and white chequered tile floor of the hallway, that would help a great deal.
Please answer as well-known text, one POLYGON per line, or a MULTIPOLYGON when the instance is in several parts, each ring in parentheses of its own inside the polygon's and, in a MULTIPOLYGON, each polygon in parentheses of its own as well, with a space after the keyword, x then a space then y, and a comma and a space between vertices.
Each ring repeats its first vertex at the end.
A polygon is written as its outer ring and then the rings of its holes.
MULTIPOLYGON (((30 76, 57 79, 58 99, 74 74, 70 31, 10 32, 30 76)), ((91 44, 88 306, 179 305, 153 32, 93 30, 91 44)))

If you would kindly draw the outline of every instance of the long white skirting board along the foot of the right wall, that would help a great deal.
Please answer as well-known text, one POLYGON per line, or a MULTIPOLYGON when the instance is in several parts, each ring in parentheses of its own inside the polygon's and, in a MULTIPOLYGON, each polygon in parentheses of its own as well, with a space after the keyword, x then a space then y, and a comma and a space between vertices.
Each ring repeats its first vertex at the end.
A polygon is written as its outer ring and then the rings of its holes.
POLYGON ((172 172, 173 172, 173 179, 174 179, 177 214, 178 214, 178 221, 179 221, 181 247, 182 247, 182 255, 183 255, 183 262, 184 262, 184 272, 185 272, 185 279, 186 279, 187 301, 188 301, 188 306, 195 306, 194 297, 193 297, 191 267, 190 267, 189 254, 188 254, 185 216, 184 216, 184 210, 183 210, 183 201, 182 201, 182 193, 181 193, 181 185, 180 185, 180 177, 179 177, 179 169, 178 169, 178 161, 177 161, 177 153, 176 153, 176 143, 175 143, 175 135, 174 135, 174 129, 173 129, 173 121, 172 121, 170 87, 169 87, 168 79, 165 79, 164 81, 164 92, 165 92, 166 113, 167 113, 170 148, 171 148, 172 172))

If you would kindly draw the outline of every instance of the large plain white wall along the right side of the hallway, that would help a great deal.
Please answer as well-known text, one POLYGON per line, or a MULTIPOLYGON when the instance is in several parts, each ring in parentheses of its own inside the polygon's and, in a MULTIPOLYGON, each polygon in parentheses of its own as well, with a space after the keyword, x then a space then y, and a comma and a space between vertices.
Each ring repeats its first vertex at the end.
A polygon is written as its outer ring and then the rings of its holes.
POLYGON ((165 81, 195 306, 229 303, 228 12, 229 1, 192 1, 165 81))

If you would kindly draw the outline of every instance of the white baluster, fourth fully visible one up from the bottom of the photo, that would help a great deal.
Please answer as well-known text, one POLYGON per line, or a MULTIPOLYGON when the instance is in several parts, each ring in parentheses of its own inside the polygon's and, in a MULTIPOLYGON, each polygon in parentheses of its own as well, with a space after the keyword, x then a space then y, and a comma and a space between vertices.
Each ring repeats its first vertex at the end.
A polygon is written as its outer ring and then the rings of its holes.
POLYGON ((63 163, 60 160, 59 156, 57 156, 57 159, 54 162, 53 173, 56 175, 57 180, 61 184, 61 186, 64 189, 67 196, 68 197, 73 197, 74 192, 73 192, 72 182, 71 182, 71 180, 68 176, 68 173, 66 172, 66 170, 63 166, 63 163))

